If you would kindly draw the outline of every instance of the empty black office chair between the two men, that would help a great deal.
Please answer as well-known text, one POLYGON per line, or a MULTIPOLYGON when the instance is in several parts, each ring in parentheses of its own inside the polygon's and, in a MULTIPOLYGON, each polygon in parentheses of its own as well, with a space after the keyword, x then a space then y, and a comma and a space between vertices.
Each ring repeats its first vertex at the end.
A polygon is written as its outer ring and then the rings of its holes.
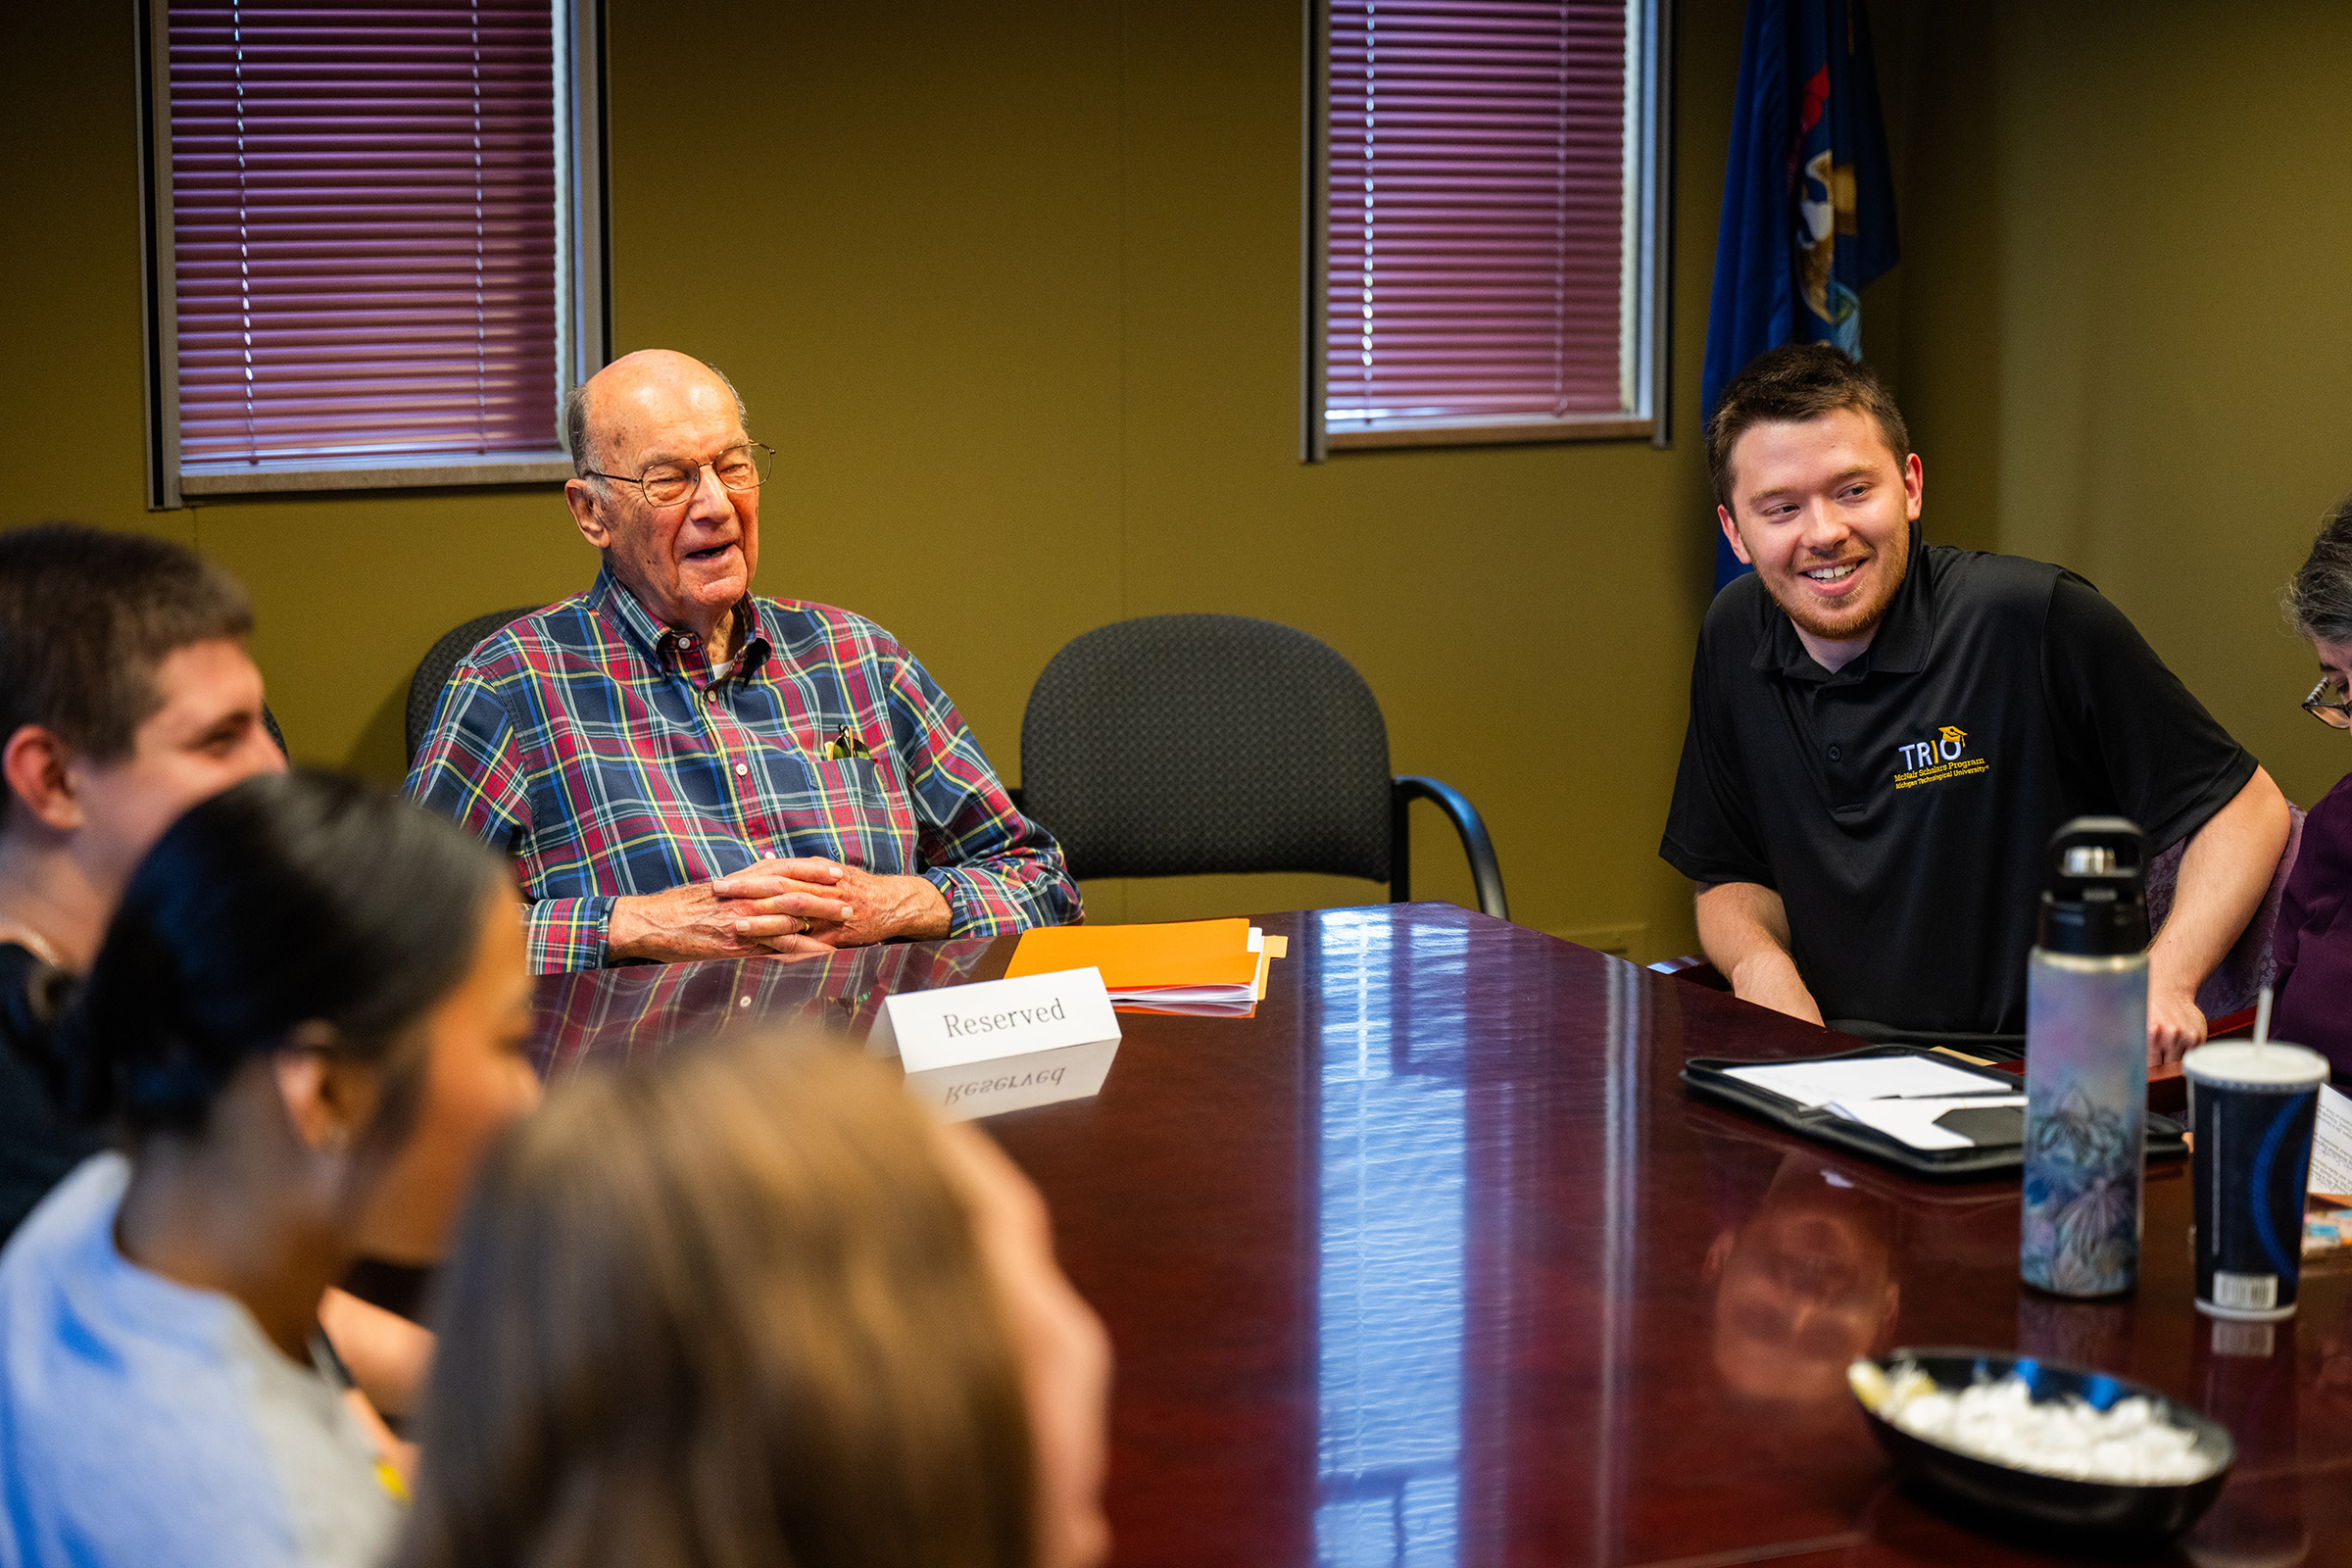
POLYGON ((1437 802, 1510 919, 1486 823, 1435 778, 1388 773, 1371 686, 1305 632, 1145 616, 1075 639, 1021 715, 1021 809, 1073 877, 1331 872, 1414 896, 1406 806, 1437 802))

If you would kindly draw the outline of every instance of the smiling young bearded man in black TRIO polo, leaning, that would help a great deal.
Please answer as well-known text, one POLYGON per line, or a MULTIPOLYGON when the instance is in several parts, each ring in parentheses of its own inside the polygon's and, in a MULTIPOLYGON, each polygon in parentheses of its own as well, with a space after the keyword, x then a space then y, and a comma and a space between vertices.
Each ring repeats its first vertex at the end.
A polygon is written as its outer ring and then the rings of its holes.
POLYGON ((2204 1039, 2197 987, 2286 846, 2270 776, 2079 576, 1922 545, 1886 388, 1811 343, 1708 421, 1717 517, 1752 576, 1715 597, 1658 853, 1698 882, 1733 990, 1809 1023, 2023 1034, 2056 827, 2187 839, 2150 947, 2150 1063, 2204 1039))

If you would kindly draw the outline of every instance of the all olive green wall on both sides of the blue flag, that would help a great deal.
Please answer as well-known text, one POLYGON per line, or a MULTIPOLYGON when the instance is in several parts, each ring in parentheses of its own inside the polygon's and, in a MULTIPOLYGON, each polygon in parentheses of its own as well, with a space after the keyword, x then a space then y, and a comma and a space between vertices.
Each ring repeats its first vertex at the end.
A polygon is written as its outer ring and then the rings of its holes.
MULTIPOLYGON (((1675 449, 1324 465, 1296 456, 1296 7, 612 9, 616 348, 715 360, 783 451, 764 590, 891 625, 1007 773, 1073 635, 1174 609, 1301 625, 1371 679, 1399 771, 1484 806, 1519 919, 1689 947, 1653 851, 1705 599, 1696 362, 1738 0, 1679 7, 1675 449), (729 71, 699 63, 710 40, 729 71)), ((1870 289, 1865 346, 1912 418, 1931 536, 2091 576, 2312 802, 2352 757, 2293 708, 2310 658, 2274 590, 2352 489, 2331 108, 2352 12, 1875 16, 1905 263, 1870 289)), ((198 543, 254 590, 296 752, 395 776, 419 651, 576 590, 590 552, 550 489, 146 512, 129 7, 16 28, 42 71, 0 96, 0 524, 198 543)), ((1435 813, 1416 877, 1468 900, 1435 813)), ((1089 889, 1110 919, 1369 893, 1089 889)))

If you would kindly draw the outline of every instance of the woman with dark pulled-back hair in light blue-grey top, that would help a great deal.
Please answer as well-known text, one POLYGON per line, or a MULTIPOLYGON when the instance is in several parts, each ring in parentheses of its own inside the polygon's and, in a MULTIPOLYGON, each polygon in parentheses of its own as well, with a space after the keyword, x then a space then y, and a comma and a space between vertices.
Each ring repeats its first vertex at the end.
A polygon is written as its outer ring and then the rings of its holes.
POLYGON ((496 856, 372 785, 249 778, 155 842, 59 1025, 127 1152, 0 1251, 0 1563, 381 1561, 320 1295, 437 1251, 536 1095, 527 990, 496 856))

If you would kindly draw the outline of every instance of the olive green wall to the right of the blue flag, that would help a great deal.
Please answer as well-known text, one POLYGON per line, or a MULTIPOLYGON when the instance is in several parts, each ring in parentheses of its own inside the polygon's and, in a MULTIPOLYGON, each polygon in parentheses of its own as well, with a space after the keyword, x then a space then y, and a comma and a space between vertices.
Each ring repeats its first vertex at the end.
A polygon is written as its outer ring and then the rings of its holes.
POLYGON ((2277 590, 2352 491, 2352 9, 1917 0, 1891 33, 1931 534, 2089 576, 2312 804, 2352 752, 2296 710, 2277 590))

